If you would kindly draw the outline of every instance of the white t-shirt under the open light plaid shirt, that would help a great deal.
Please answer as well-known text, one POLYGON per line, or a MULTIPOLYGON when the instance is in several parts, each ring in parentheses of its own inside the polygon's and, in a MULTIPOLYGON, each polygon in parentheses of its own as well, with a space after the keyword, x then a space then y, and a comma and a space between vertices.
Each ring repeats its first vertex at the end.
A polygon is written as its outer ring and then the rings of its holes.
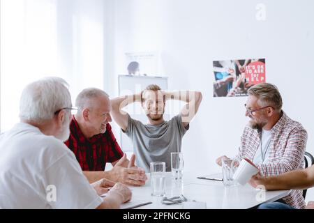
POLYGON ((254 155, 253 163, 261 164, 265 163, 269 157, 269 146, 271 143, 271 130, 262 130, 261 143, 254 155), (262 147, 261 147, 262 146, 262 147))

